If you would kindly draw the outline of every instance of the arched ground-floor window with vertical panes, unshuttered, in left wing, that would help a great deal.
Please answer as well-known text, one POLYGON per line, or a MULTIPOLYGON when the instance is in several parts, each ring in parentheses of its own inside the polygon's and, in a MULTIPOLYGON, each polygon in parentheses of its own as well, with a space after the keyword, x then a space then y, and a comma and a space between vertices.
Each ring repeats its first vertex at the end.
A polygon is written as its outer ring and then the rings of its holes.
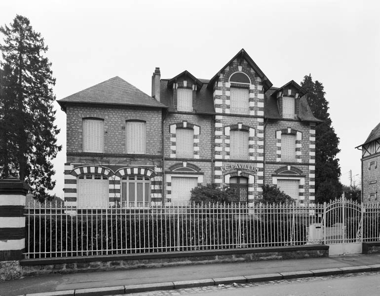
POLYGON ((146 176, 130 175, 121 179, 121 202, 129 208, 148 207, 151 180, 146 176))

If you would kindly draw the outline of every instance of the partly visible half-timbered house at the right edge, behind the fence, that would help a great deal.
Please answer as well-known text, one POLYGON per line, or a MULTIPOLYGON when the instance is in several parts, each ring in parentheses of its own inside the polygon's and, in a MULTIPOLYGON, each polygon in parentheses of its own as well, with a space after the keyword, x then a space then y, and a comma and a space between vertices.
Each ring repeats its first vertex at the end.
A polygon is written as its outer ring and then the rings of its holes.
POLYGON ((362 201, 378 202, 380 190, 380 123, 371 131, 362 150, 362 201))

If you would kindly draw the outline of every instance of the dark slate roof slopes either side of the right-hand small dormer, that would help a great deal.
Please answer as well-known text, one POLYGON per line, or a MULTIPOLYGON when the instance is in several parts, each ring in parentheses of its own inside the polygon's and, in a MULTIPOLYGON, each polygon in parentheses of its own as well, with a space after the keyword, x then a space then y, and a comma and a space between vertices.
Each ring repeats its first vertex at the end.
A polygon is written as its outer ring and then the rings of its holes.
MULTIPOLYGON (((282 88, 282 87, 281 87, 282 88)), ((277 99, 275 98, 275 93, 277 90, 281 89, 277 87, 271 87, 265 94, 264 99, 264 117, 270 119, 282 119, 278 111, 277 99)), ((322 120, 314 117, 311 112, 310 107, 307 105, 306 96, 300 98, 300 109, 298 117, 301 121, 309 121, 309 122, 322 122, 322 120)))

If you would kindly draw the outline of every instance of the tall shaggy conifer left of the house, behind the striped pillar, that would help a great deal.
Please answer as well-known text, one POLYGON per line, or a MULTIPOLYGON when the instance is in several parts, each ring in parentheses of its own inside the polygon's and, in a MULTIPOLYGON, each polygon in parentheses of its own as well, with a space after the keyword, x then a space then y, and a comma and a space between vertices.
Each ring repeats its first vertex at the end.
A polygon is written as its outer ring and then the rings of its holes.
POLYGON ((0 177, 18 174, 36 198, 53 198, 47 192, 55 185, 50 160, 61 146, 56 145, 59 129, 54 125, 55 78, 43 56, 47 46, 29 19, 20 15, 0 32, 4 36, 0 44, 0 177))

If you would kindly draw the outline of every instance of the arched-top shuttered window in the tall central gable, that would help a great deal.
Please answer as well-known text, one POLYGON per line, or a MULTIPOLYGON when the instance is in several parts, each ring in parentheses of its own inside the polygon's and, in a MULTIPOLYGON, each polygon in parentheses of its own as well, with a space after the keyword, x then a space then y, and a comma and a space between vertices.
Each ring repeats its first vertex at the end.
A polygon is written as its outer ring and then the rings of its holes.
POLYGON ((251 80, 243 72, 235 72, 229 77, 230 113, 249 114, 249 87, 251 80))

